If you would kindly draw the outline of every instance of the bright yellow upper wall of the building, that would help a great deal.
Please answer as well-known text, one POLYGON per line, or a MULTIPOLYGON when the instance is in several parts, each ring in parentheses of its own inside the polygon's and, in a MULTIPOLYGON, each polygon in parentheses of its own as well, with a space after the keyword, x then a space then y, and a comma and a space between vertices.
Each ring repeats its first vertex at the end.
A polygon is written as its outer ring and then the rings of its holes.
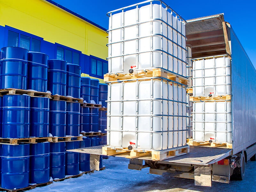
POLYGON ((0 25, 40 36, 101 59, 108 56, 108 34, 44 0, 0 0, 0 25))

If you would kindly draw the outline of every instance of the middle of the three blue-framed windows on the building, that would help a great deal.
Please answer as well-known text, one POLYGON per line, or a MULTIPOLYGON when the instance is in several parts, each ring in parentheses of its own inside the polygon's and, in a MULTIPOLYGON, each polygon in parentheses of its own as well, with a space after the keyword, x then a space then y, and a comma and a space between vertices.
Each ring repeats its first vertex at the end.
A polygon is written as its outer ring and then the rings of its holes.
POLYGON ((56 44, 56 59, 65 60, 68 63, 80 65, 80 56, 82 52, 75 49, 56 44))

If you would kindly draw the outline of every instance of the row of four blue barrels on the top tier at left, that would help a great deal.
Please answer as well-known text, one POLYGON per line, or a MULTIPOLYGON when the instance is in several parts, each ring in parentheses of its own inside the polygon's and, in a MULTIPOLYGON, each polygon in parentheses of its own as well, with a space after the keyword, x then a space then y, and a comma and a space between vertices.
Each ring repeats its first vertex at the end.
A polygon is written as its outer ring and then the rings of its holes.
POLYGON ((0 89, 50 91, 52 95, 80 97, 81 67, 20 47, 1 49, 0 89))

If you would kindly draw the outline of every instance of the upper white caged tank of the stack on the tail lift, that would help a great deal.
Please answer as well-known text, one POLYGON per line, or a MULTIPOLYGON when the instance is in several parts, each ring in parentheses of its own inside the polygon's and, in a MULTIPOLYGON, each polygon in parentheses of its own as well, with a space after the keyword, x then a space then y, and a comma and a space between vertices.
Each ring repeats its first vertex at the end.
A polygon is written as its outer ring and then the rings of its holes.
POLYGON ((109 14, 108 71, 164 68, 186 74, 185 21, 165 4, 131 6, 109 14))

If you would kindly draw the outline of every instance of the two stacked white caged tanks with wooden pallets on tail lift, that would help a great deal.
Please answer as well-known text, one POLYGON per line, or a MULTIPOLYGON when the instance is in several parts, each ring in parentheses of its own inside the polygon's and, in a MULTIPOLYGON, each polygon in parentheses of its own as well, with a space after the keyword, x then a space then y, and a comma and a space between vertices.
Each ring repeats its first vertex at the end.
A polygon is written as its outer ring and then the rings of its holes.
POLYGON ((127 158, 162 160, 187 153, 186 21, 162 1, 108 16, 107 146, 102 154, 121 149, 130 152, 127 158))

